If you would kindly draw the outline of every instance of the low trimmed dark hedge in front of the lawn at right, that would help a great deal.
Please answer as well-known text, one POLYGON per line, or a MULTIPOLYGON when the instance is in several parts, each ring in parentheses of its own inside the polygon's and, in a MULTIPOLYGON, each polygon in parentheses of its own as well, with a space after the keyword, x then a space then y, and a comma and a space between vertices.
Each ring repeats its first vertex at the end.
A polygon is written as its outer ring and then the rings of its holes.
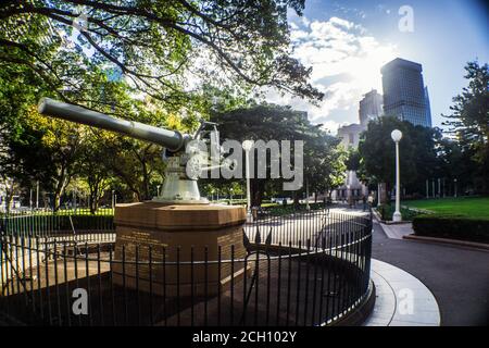
POLYGON ((489 244, 489 219, 422 214, 413 219, 413 229, 418 236, 489 244))

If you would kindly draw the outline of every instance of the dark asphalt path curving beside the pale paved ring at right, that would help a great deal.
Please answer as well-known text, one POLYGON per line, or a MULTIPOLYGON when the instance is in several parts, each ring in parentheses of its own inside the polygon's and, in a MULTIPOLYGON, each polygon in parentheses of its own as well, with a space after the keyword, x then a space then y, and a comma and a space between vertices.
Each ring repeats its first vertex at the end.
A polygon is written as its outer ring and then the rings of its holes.
POLYGON ((417 277, 435 295, 441 325, 489 324, 489 252, 389 238, 374 222, 373 258, 417 277))

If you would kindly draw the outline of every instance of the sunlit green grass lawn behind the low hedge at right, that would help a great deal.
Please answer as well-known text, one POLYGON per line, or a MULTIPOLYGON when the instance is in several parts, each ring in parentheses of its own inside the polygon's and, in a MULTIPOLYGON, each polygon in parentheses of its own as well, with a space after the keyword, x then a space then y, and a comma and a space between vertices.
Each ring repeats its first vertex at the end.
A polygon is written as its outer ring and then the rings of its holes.
POLYGON ((461 197, 406 200, 402 206, 429 210, 447 215, 489 219, 489 197, 461 197))

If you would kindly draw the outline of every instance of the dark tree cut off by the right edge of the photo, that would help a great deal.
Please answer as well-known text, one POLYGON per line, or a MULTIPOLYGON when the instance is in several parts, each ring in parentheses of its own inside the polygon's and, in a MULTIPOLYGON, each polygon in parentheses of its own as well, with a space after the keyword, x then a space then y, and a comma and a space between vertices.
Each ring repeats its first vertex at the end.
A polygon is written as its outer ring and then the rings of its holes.
POLYGON ((489 65, 477 61, 465 66, 468 86, 453 98, 452 113, 443 125, 456 136, 463 151, 475 162, 480 190, 489 192, 489 65))

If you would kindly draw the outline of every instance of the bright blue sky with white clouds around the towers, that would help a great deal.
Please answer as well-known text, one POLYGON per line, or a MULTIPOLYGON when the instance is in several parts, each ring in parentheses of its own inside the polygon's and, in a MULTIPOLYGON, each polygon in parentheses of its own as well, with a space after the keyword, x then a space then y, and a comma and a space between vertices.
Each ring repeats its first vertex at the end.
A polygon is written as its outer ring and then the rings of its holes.
POLYGON ((481 1, 306 0, 303 16, 289 12, 289 26, 293 57, 313 67, 311 83, 325 98, 315 107, 269 90, 266 100, 308 111, 333 134, 359 122, 365 92, 383 92, 380 66, 394 58, 423 65, 434 126, 441 126, 441 114, 466 86, 466 62, 489 62, 489 15, 481 1), (403 5, 412 10, 411 22, 403 5))

